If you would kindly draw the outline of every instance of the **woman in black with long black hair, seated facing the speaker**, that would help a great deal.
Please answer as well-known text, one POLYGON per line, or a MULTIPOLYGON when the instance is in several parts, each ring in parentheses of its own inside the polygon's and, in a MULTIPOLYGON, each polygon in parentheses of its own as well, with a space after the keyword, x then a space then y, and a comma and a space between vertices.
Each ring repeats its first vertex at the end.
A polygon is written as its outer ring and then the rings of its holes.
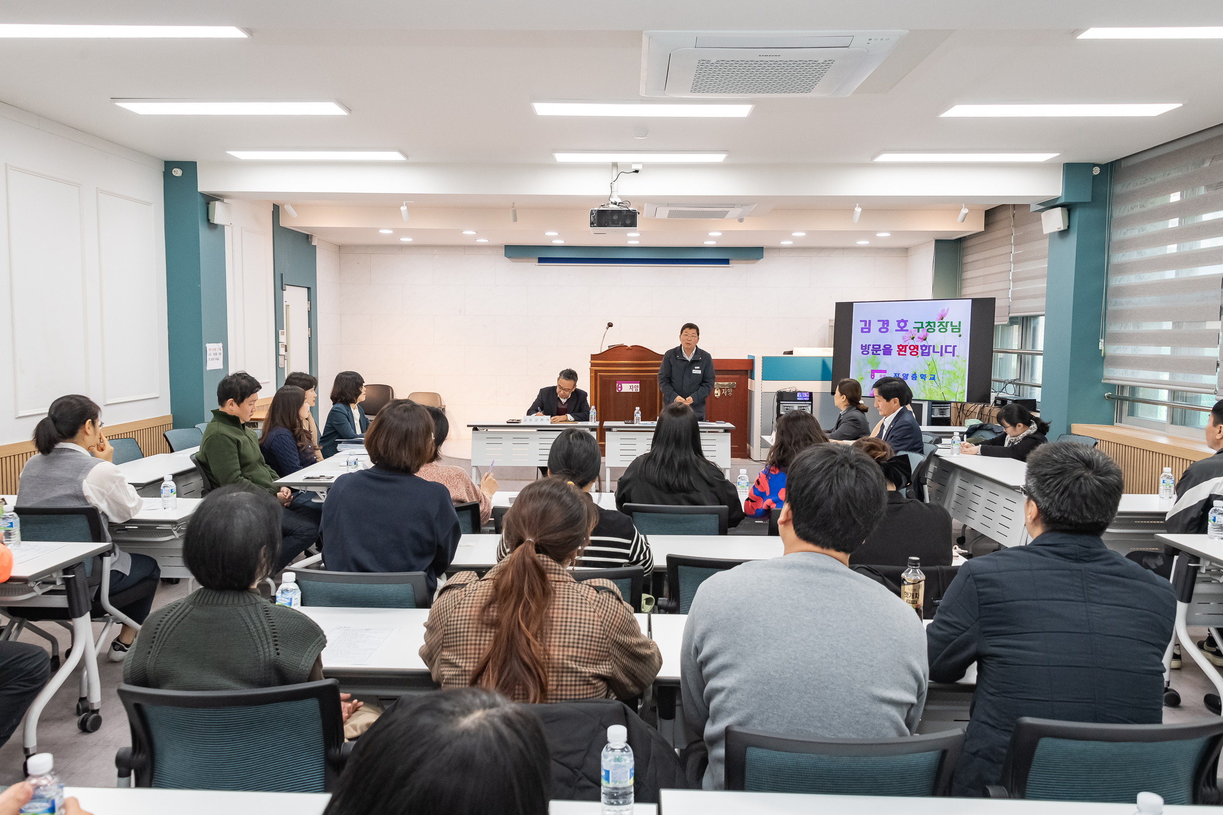
POLYGON ((728 525, 744 519, 739 490, 701 451, 701 429, 687 404, 671 402, 654 425, 649 452, 637 456, 616 483, 615 506, 654 503, 682 507, 724 505, 728 525))

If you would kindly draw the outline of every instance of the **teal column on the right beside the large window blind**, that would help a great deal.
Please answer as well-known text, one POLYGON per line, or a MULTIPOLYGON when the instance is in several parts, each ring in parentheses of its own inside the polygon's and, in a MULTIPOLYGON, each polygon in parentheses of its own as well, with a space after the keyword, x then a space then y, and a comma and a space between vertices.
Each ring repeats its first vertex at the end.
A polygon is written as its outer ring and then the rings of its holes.
POLYGON ((1049 423, 1051 440, 1070 433, 1074 423, 1113 424, 1113 404, 1104 400, 1113 387, 1101 381, 1099 347, 1112 178, 1109 164, 1068 164, 1062 197, 1043 204, 1070 210, 1069 228, 1049 235, 1044 290, 1041 418, 1049 423))

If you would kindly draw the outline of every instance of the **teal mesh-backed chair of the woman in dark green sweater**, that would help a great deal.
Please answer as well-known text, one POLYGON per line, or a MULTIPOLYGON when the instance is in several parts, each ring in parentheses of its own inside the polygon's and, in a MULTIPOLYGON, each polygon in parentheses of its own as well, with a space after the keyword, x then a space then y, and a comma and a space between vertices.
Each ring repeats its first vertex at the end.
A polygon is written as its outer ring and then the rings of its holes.
POLYGON ((119 685, 120 787, 329 792, 349 759, 336 679, 249 690, 119 685))

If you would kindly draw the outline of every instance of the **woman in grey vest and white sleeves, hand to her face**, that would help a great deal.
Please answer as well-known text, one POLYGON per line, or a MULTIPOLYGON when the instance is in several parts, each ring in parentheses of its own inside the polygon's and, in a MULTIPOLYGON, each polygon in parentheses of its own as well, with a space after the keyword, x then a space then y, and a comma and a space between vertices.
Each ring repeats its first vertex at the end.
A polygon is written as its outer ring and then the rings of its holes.
MULTIPOLYGON (((115 448, 102 434, 100 411, 87 396, 61 396, 51 402, 46 417, 34 428, 38 455, 26 462, 17 484, 18 507, 95 506, 108 523, 130 521, 143 500, 111 459, 115 448)), ((109 530, 106 539, 110 539, 109 530)), ((132 555, 115 547, 110 568, 110 596, 126 594, 142 584, 152 590, 119 611, 143 623, 153 607, 161 569, 148 555, 132 555)), ((110 644, 111 662, 122 662, 136 629, 124 626, 110 644)))

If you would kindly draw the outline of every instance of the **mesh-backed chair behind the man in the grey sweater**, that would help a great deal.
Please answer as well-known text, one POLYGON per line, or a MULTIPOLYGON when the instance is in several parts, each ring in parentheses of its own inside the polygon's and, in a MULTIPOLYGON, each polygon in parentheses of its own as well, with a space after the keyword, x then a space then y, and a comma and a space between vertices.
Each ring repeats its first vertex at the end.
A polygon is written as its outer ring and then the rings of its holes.
POLYGON ((947 795, 964 731, 899 738, 796 738, 726 728, 726 789, 947 795))

